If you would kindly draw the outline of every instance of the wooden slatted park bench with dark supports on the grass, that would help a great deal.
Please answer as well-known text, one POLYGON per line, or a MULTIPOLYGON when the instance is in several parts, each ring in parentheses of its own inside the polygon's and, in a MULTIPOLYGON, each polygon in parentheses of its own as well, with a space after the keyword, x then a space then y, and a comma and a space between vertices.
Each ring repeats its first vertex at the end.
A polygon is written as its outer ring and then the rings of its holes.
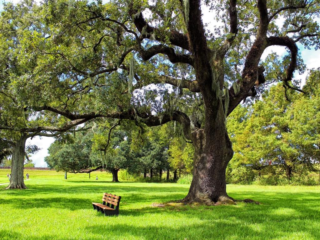
POLYGON ((104 212, 105 216, 119 215, 119 204, 121 196, 116 196, 110 193, 104 193, 101 203, 92 203, 93 209, 104 212))

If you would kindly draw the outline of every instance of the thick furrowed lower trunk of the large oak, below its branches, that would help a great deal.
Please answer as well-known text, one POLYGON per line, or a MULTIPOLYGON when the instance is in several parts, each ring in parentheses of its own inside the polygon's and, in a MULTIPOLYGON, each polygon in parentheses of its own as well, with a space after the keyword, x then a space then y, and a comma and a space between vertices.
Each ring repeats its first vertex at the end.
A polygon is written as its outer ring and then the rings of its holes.
POLYGON ((209 126, 205 130, 193 132, 193 179, 183 202, 234 204, 234 200, 226 191, 226 168, 233 156, 233 150, 225 128, 223 112, 220 111, 220 114, 216 118, 216 124, 206 124, 209 126), (208 132, 208 128, 212 126, 212 130, 208 132))

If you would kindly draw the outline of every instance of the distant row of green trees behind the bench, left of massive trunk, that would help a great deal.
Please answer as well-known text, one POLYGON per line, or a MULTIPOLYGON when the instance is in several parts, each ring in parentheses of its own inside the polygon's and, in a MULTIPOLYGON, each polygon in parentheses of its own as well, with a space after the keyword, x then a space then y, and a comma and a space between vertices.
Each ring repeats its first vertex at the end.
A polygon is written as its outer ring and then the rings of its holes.
POLYGON ((119 181, 120 169, 131 178, 155 181, 175 181, 192 172, 192 145, 174 124, 145 131, 130 122, 101 119, 88 126, 86 131, 56 138, 45 157, 50 168, 71 173, 104 169, 112 173, 114 182, 119 181))

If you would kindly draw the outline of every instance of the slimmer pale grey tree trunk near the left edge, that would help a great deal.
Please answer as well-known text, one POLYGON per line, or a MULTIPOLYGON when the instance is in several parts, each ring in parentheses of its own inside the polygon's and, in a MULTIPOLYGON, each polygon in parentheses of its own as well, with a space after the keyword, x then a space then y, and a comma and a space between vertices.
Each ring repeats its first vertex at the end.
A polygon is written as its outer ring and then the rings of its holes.
POLYGON ((14 145, 11 159, 11 179, 6 189, 26 189, 23 181, 23 165, 27 137, 23 135, 14 145))

